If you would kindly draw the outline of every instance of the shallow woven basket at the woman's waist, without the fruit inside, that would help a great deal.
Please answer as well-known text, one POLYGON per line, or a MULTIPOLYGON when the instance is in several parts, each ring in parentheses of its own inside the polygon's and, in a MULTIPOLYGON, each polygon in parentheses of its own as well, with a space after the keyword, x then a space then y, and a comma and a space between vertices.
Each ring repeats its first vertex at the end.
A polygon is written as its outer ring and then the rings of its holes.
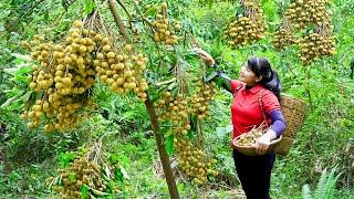
MULTIPOLYGON (((256 148, 254 147, 246 147, 246 146, 240 146, 238 145, 238 140, 240 139, 240 136, 237 136, 233 140, 232 140, 232 147, 238 150, 239 153, 243 154, 243 155, 247 155, 247 156, 259 156, 259 154, 257 154, 256 151, 256 148)), ((277 139, 273 139, 268 149, 266 150, 264 154, 269 154, 269 153, 272 153, 275 150, 275 148, 278 147, 279 143, 281 142, 282 139, 282 136, 280 136, 279 138, 277 139)))

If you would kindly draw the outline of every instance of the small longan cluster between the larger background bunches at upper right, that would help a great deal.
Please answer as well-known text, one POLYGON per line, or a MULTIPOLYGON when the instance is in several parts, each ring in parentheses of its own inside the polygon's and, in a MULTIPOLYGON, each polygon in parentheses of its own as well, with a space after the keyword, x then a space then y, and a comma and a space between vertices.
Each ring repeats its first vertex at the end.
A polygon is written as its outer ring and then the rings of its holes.
POLYGON ((281 29, 274 33, 271 43, 277 50, 283 50, 288 45, 296 44, 298 40, 289 29, 281 29))

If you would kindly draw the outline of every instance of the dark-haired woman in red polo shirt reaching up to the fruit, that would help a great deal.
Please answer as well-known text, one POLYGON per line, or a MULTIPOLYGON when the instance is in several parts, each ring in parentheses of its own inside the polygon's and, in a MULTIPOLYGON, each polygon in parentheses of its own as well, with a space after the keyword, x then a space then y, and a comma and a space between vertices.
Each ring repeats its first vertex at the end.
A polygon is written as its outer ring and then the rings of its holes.
MULTIPOLYGON (((212 56, 201 49, 196 49, 200 57, 212 66, 212 56)), ((230 80, 222 72, 217 75, 225 80, 228 91, 235 98, 231 106, 233 134, 232 139, 249 132, 264 122, 269 130, 256 140, 258 156, 247 156, 233 149, 237 174, 248 199, 268 199, 271 170, 275 160, 274 153, 264 154, 272 139, 285 129, 285 121, 280 108, 280 81, 270 63, 263 57, 250 57, 241 67, 239 80, 230 80), (262 106, 259 102, 261 96, 262 106)))

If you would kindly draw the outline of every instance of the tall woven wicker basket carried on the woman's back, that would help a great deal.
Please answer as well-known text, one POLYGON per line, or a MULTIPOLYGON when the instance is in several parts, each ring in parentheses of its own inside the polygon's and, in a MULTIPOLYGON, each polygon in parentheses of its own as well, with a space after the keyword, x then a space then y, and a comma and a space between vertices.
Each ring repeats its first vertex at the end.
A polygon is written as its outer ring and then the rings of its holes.
POLYGON ((281 94, 281 108, 287 121, 287 129, 283 138, 279 142, 275 154, 287 155, 301 128, 306 111, 306 104, 298 98, 281 94))

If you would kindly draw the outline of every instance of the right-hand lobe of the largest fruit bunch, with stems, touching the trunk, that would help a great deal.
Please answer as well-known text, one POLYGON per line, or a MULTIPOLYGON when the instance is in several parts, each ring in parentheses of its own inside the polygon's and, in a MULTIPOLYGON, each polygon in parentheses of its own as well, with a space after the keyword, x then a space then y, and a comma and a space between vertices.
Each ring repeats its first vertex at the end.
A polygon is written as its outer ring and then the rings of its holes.
POLYGON ((148 88, 144 77, 147 57, 132 44, 122 42, 98 13, 93 14, 86 23, 96 32, 101 31, 108 35, 97 38, 100 51, 96 52, 93 63, 98 78, 107 84, 111 91, 118 94, 133 91, 142 102, 145 102, 148 88))

